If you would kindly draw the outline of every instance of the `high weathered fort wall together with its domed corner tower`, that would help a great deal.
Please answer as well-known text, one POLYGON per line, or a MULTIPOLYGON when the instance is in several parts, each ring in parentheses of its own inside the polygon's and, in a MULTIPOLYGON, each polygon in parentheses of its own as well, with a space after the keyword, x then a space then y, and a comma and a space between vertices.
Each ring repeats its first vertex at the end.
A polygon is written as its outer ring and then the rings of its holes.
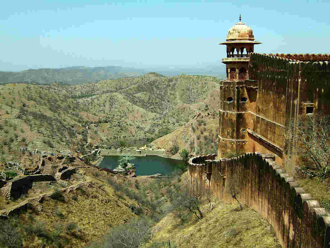
POLYGON ((218 157, 273 153, 291 176, 295 166, 284 146, 284 132, 298 115, 329 113, 329 55, 253 53, 253 45, 260 43, 241 21, 221 44, 227 46, 227 58, 222 59, 227 79, 220 85, 218 157))

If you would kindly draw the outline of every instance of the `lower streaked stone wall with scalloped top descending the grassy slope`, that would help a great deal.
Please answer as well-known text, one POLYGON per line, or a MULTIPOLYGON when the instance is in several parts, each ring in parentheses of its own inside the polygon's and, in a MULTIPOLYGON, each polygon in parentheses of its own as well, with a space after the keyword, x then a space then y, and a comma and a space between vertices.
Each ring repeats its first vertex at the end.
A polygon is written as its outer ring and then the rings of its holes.
POLYGON ((233 202, 228 185, 234 185, 238 200, 268 219, 282 247, 330 247, 328 213, 275 163, 274 155, 212 156, 189 160, 191 189, 207 187, 222 201, 233 202))

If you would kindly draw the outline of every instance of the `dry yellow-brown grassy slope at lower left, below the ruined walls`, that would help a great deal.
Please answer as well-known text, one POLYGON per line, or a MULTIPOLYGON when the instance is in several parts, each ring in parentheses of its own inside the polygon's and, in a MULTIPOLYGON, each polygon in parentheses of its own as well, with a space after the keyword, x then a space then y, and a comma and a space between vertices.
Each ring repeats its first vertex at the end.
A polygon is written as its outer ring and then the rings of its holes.
MULTIPOLYGON (((42 244, 45 244, 45 247, 61 247, 59 243, 62 247, 85 247, 87 243, 100 240, 110 227, 135 218, 136 215, 128 206, 137 203, 123 192, 116 193, 114 188, 103 180, 107 177, 109 176, 97 172, 94 168, 80 169, 71 176, 71 180, 83 178, 83 181, 91 181, 91 186, 63 193, 64 201, 46 197, 42 203, 34 202, 32 209, 21 211, 18 216, 11 217, 16 218, 19 223, 23 247, 35 248, 41 247, 42 244), (36 210, 37 206, 41 206, 42 210, 36 210), (76 223, 79 228, 73 232, 66 232, 65 226, 70 222, 76 223), (36 226, 40 226, 44 234, 37 235, 33 231, 36 226), (58 226, 62 226, 62 229, 56 234, 58 226)), ((35 183, 29 195, 38 189, 47 188, 52 192, 54 187, 62 188, 56 183, 52 185, 49 186, 46 182, 35 183)))

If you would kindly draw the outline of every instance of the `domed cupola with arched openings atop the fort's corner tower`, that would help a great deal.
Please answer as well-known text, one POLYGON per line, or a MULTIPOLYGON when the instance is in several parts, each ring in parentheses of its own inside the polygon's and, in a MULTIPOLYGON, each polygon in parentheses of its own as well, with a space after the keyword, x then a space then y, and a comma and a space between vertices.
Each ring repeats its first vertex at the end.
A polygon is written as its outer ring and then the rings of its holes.
POLYGON ((241 81, 248 79, 248 61, 250 53, 254 52, 254 45, 261 44, 254 41, 252 29, 240 21, 228 30, 226 42, 227 57, 222 59, 222 63, 227 66, 227 80, 241 81))

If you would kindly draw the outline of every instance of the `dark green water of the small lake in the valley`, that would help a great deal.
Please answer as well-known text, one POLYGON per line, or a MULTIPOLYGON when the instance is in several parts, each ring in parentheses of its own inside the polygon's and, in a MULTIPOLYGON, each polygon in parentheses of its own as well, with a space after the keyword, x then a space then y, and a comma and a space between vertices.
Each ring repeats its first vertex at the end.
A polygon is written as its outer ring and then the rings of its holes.
MULTIPOLYGON (((100 167, 115 169, 118 166, 118 159, 120 156, 106 156, 103 158, 100 167)), ((159 156, 146 156, 135 157, 130 163, 135 164, 136 175, 153 175, 160 173, 162 175, 169 175, 175 169, 177 165, 187 164, 182 160, 163 158, 159 156)))

